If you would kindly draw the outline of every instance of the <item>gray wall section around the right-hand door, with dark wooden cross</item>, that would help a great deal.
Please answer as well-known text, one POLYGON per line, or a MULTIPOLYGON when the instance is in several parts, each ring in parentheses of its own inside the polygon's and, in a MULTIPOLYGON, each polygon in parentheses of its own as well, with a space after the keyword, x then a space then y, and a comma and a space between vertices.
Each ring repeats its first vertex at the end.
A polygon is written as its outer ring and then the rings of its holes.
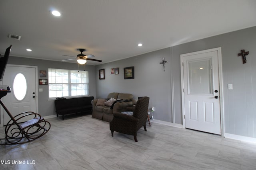
MULTIPOLYGON (((222 50, 224 132, 255 138, 256 27, 177 45, 172 48, 174 65, 180 63, 180 54, 215 47, 222 50), (246 64, 238 57, 242 49, 249 51, 246 64), (228 90, 228 84, 233 84, 233 90, 228 90)), ((175 75, 174 91, 179 91, 180 69, 175 75)))

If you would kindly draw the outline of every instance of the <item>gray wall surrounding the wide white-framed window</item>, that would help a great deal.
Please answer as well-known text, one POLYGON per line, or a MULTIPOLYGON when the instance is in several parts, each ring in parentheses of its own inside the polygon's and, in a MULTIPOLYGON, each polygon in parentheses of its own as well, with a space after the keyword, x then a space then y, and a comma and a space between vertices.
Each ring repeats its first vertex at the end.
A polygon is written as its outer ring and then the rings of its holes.
MULTIPOLYGON (((68 69, 68 70, 78 70, 78 64, 75 63, 65 63, 58 61, 48 61, 48 60, 38 60, 38 59, 30 59, 30 58, 22 58, 22 57, 9 57, 8 64, 18 64, 18 65, 30 65, 30 66, 38 66, 38 79, 39 71, 46 70, 47 79, 48 79, 48 68, 59 68, 59 69, 68 69)), ((90 96, 96 96, 96 80, 95 80, 95 66, 85 65, 79 66, 79 70, 86 70, 89 72, 89 93, 90 96)), ((48 86, 38 85, 38 88, 42 88, 43 92, 37 92, 38 98, 38 112, 42 116, 54 115, 55 106, 54 100, 48 100, 48 86)))

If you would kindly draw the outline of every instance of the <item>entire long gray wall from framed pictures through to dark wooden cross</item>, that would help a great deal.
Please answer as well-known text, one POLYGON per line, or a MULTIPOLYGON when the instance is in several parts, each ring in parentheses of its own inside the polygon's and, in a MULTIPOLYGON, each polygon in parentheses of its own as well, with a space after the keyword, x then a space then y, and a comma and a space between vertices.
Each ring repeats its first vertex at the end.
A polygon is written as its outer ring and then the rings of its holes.
POLYGON ((98 65, 96 97, 104 98, 109 92, 131 93, 135 98, 149 96, 150 107, 156 108, 155 119, 182 124, 180 55, 216 47, 222 49, 224 132, 255 138, 256 27, 98 65), (246 64, 238 57, 241 49, 249 51, 246 64), (163 57, 169 61, 165 72, 159 64, 163 57), (134 66, 134 79, 124 80, 123 68, 127 66, 134 66), (114 67, 119 67, 120 74, 110 74, 114 67), (105 80, 98 79, 102 68, 105 80), (228 90, 228 84, 233 84, 233 90, 228 90))

